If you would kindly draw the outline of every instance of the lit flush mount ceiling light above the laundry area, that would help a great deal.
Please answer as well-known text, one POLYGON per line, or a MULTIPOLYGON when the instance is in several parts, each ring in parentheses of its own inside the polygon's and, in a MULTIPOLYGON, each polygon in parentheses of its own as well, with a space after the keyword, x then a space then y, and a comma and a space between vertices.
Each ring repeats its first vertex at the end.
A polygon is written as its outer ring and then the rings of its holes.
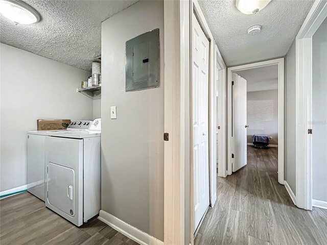
POLYGON ((40 21, 40 14, 19 0, 0 0, 0 13, 16 24, 32 24, 40 21))

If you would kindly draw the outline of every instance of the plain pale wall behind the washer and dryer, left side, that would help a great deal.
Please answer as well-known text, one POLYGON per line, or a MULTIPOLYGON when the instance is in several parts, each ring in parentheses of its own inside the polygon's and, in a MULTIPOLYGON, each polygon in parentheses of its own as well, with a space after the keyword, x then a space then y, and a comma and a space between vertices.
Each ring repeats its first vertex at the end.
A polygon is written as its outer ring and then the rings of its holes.
POLYGON ((26 185, 27 131, 37 119, 89 119, 92 100, 76 92, 89 72, 0 44, 0 190, 26 185))

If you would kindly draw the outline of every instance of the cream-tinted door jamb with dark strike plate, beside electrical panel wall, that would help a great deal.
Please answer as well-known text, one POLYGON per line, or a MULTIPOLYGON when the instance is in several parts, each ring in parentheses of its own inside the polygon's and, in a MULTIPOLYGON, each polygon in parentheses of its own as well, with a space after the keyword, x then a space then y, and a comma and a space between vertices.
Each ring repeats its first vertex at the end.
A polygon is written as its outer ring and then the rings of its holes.
MULTIPOLYGON (((180 1, 164 1, 164 33, 165 35, 165 126, 169 133, 169 141, 164 144, 164 244, 184 243, 184 149, 181 149, 181 135, 185 129, 181 127, 180 90, 181 62, 180 45, 181 30, 180 1)), ((186 142, 185 142, 186 143, 186 142)))

